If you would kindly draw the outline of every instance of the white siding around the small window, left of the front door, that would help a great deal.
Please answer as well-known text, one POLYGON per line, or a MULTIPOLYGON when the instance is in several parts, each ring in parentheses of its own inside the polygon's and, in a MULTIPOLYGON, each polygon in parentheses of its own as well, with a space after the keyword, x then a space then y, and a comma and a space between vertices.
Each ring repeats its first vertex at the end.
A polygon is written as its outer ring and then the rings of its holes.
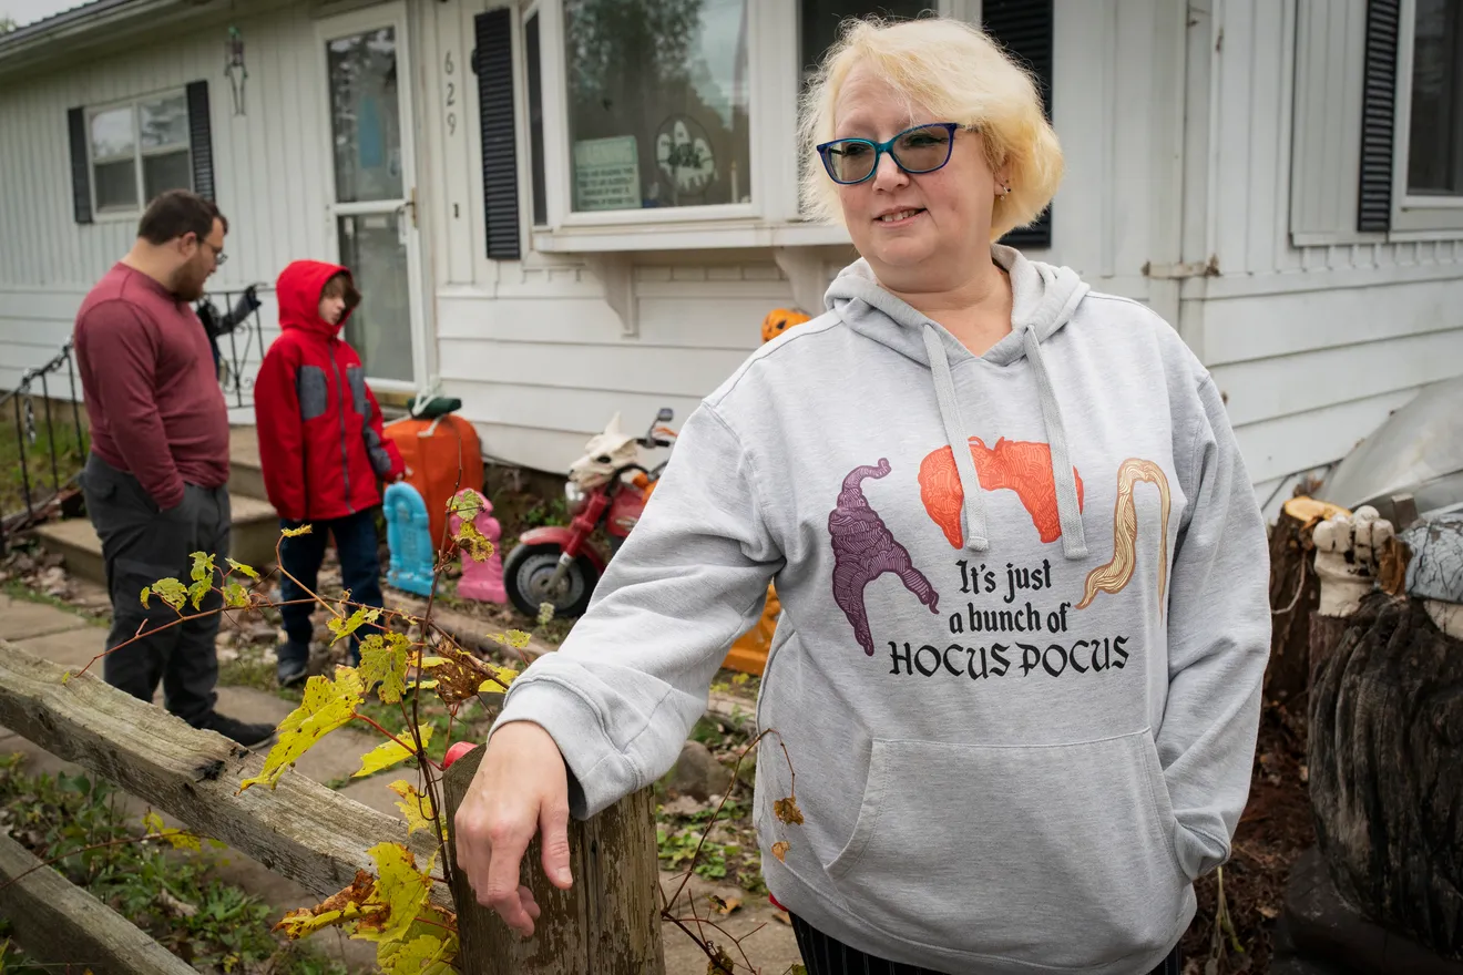
MULTIPOLYGON (((222 28, 157 48, 66 64, 0 89, 0 389, 44 363, 70 335, 86 291, 132 246, 136 216, 79 225, 72 215, 66 113, 206 79, 214 181, 230 219, 217 291, 274 284, 296 257, 334 253, 325 218, 320 63, 303 4, 237 22, 247 44, 247 114, 234 115, 222 76, 222 28)), ((277 322, 265 294, 266 326, 277 322)), ((253 357, 257 361, 257 355, 253 357)))

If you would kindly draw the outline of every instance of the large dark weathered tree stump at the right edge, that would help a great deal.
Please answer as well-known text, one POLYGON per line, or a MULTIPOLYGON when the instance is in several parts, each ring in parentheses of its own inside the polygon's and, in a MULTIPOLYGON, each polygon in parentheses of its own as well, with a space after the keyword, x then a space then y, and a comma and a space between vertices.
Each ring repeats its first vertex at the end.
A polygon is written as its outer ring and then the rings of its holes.
POLYGON ((1366 917, 1463 959, 1463 640, 1384 592, 1336 623, 1309 707, 1327 871, 1366 917))

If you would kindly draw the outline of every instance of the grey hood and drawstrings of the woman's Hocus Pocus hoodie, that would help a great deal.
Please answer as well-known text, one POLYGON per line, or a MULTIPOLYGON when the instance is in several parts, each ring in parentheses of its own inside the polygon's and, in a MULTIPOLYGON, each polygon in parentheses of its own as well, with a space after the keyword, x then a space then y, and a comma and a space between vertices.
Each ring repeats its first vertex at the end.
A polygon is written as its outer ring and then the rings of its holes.
POLYGON ((1011 335, 996 342, 982 357, 973 355, 936 322, 885 291, 873 276, 869 262, 862 257, 840 272, 828 287, 824 303, 859 335, 929 368, 945 439, 960 475, 960 488, 964 494, 961 528, 966 547, 971 551, 988 551, 990 536, 986 532, 980 478, 970 450, 964 449, 970 441, 970 433, 960 412, 951 364, 958 367, 980 358, 998 367, 1008 367, 1021 358, 1030 361, 1042 403, 1042 421, 1050 444, 1056 512, 1062 525, 1062 554, 1074 560, 1086 558, 1087 539, 1083 535, 1077 477, 1072 472, 1062 411, 1052 389, 1046 361, 1042 358, 1042 342, 1072 319, 1087 297, 1088 287, 1075 270, 1033 263, 1012 247, 993 244, 990 256, 1011 278, 1011 335))

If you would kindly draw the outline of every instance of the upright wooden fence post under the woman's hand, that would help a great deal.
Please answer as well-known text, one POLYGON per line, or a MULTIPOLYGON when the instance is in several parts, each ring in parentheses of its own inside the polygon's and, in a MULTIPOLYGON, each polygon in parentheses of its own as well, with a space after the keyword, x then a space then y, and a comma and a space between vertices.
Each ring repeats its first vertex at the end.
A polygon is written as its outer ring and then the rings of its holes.
MULTIPOLYGON (((448 769, 443 792, 456 845, 456 810, 483 760, 478 746, 448 769)), ((559 890, 543 871, 538 838, 524 855, 524 881, 541 914, 521 938, 477 903, 467 874, 454 871, 459 966, 464 975, 664 975, 655 800, 641 789, 590 820, 569 820, 573 886, 559 890)), ((455 854, 454 854, 455 855, 455 854)))

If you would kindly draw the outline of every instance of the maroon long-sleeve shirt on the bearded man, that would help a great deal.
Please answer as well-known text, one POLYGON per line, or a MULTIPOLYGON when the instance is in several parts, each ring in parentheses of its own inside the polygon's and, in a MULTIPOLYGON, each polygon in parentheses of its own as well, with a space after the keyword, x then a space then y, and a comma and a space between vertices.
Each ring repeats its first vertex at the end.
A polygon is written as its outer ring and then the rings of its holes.
POLYGON ((187 301, 116 265, 76 313, 76 364, 92 450, 158 507, 181 503, 184 481, 228 481, 228 408, 187 301))

